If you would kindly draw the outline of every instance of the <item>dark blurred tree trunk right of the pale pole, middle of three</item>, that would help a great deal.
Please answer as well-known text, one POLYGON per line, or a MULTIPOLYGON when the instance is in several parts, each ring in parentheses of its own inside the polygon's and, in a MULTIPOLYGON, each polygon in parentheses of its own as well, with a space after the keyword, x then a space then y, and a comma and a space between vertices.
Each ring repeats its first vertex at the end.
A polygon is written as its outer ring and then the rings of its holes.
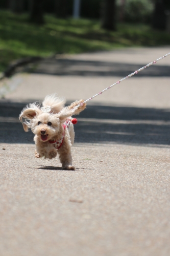
POLYGON ((102 3, 102 28, 116 30, 115 25, 115 0, 103 0, 102 3))

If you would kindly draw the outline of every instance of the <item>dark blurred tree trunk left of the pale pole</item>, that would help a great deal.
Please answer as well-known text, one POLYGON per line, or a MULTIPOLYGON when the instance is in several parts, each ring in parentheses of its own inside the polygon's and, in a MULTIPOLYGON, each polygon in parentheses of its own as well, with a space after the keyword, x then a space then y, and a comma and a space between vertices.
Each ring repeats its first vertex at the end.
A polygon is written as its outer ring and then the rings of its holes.
POLYGON ((30 0, 30 22, 43 24, 43 0, 30 0))

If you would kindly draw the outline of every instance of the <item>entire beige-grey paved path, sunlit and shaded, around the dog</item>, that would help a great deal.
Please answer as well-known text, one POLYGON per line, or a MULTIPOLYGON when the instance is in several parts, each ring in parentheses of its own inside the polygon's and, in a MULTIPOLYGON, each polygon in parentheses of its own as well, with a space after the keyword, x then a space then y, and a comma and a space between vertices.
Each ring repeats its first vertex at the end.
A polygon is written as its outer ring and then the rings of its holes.
POLYGON ((169 255, 170 57, 87 105, 75 125, 76 171, 35 159, 18 121, 28 102, 89 98, 168 52, 58 55, 1 83, 0 255, 169 255))

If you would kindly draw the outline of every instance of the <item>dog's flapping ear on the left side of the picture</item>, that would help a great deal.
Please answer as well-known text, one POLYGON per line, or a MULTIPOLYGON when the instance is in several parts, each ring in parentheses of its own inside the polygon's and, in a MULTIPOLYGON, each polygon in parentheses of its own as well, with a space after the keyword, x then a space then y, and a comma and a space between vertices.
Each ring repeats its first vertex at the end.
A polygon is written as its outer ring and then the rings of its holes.
POLYGON ((26 108, 26 109, 23 109, 19 115, 19 120, 21 121, 22 125, 23 125, 23 130, 25 132, 28 132, 29 128, 31 127, 30 126, 30 123, 29 121, 26 121, 26 122, 22 122, 22 118, 26 118, 26 119, 33 119, 36 115, 38 115, 40 113, 40 109, 35 106, 35 108, 26 108))

